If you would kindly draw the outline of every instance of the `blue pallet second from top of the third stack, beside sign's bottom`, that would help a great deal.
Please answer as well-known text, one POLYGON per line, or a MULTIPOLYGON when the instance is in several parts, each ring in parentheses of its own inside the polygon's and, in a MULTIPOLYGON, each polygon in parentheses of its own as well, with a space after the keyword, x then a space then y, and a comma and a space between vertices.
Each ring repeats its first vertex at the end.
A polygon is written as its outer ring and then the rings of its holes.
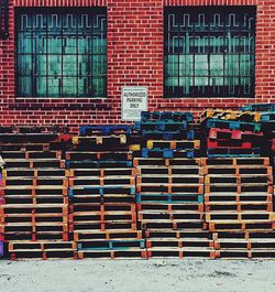
POLYGON ((156 130, 156 131, 173 131, 173 130, 187 130, 187 121, 136 121, 133 126, 134 130, 156 130))

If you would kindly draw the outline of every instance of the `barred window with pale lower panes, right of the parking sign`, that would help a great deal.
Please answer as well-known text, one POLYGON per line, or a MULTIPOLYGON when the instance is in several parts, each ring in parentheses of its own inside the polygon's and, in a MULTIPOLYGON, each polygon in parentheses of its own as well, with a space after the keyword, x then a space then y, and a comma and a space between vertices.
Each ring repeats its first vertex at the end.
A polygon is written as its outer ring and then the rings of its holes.
POLYGON ((166 97, 253 97, 254 7, 165 10, 166 97))

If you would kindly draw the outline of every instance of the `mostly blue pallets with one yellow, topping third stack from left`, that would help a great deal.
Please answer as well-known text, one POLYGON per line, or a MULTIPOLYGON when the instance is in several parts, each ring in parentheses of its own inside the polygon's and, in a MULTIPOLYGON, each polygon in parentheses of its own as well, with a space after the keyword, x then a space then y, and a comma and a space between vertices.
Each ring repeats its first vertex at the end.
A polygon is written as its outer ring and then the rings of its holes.
POLYGON ((141 136, 142 158, 195 158, 199 154, 200 142, 194 140, 191 112, 147 112, 141 113, 141 121, 134 130, 141 136))

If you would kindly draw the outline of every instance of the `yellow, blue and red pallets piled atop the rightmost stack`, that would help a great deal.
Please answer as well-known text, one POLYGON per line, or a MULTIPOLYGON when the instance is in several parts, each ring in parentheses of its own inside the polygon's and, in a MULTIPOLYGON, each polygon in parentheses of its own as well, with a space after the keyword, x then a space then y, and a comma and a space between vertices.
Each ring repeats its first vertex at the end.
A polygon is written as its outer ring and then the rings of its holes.
POLYGON ((260 115, 208 109, 201 116, 202 153, 209 158, 261 156, 260 115))

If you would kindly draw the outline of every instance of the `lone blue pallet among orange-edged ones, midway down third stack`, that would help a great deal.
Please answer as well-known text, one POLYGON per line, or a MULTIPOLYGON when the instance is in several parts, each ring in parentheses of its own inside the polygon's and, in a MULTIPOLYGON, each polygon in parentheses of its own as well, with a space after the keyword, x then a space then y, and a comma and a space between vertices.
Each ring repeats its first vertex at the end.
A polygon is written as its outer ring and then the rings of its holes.
POLYGON ((198 194, 136 194, 135 202, 140 203, 204 203, 204 196, 198 194), (185 199, 177 199, 179 197, 186 197, 185 199), (189 197, 189 199, 187 199, 189 197))

